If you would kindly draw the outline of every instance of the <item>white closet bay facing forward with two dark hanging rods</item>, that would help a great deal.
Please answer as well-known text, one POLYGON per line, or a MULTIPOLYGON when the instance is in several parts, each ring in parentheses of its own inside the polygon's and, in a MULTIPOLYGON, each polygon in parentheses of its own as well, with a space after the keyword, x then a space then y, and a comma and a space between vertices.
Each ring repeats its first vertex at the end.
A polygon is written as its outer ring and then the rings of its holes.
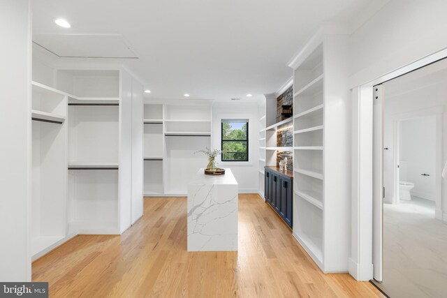
MULTIPOLYGON (((76 96, 68 103, 68 232, 119 234, 123 126, 119 70, 58 70, 57 87, 76 96), (121 173, 120 173, 121 172, 121 173)), ((131 132, 131 131, 130 131, 131 132)), ((123 156, 123 157, 124 157, 123 156)))

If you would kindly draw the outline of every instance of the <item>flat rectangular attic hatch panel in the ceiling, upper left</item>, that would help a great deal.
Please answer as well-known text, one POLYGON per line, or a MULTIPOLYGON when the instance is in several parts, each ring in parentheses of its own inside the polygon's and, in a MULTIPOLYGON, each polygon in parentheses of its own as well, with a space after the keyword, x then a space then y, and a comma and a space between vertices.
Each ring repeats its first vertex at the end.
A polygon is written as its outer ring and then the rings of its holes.
POLYGON ((33 43, 60 58, 138 59, 121 34, 36 34, 33 43))

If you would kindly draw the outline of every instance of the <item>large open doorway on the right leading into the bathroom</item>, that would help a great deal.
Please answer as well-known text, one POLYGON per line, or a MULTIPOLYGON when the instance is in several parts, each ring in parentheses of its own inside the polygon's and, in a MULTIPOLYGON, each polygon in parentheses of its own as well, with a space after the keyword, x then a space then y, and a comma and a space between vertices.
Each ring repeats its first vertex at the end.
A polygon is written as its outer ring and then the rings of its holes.
POLYGON ((383 187, 374 283, 390 297, 447 297, 446 82, 444 59, 374 87, 383 187))

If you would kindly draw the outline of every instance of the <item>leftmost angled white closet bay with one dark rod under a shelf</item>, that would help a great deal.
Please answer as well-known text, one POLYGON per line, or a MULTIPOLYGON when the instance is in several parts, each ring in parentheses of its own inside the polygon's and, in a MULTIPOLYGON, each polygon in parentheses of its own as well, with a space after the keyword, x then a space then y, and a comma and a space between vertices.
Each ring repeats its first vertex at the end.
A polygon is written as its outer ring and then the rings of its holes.
POLYGON ((66 239, 67 94, 32 83, 31 255, 66 239))

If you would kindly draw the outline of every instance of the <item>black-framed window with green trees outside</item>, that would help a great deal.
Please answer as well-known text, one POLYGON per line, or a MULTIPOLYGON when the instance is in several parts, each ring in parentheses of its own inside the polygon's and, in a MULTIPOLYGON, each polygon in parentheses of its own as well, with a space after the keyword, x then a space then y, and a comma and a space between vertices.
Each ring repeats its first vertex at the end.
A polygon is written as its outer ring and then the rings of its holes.
POLYGON ((222 119, 222 161, 249 161, 248 119, 222 119))

